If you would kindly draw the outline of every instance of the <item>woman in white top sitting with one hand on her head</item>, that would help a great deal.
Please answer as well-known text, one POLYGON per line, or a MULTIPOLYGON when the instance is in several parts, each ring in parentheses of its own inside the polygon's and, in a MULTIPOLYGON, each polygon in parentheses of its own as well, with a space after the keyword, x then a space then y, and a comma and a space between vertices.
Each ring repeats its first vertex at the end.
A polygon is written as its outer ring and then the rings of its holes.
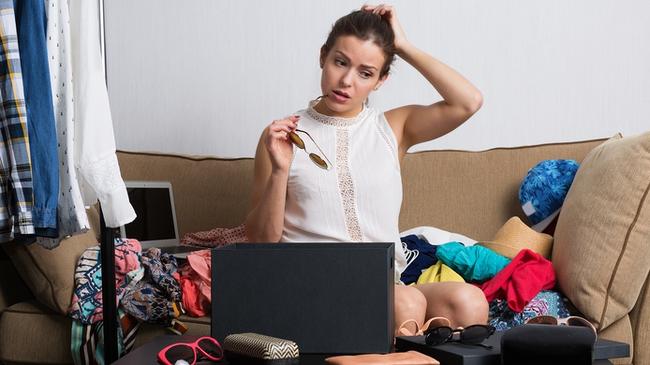
POLYGON ((406 151, 461 125, 481 107, 481 93, 411 44, 389 5, 364 5, 339 19, 320 50, 320 65, 323 96, 262 133, 246 219, 249 240, 393 241, 398 331, 415 333, 434 316, 449 318, 452 326, 485 323, 488 305, 474 286, 399 285, 406 258, 398 230, 399 165, 406 151), (444 100, 385 113, 368 108, 367 98, 387 80, 395 54, 444 100))

